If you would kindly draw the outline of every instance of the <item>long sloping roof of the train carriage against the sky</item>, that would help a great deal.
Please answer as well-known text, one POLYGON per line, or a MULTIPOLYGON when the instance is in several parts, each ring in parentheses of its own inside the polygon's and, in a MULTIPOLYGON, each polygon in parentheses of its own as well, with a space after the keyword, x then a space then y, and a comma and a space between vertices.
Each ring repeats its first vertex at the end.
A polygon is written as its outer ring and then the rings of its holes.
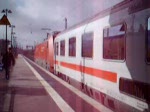
POLYGON ((107 9, 99 12, 98 14, 94 15, 91 18, 88 18, 86 20, 81 21, 78 24, 75 24, 75 25, 71 26, 70 28, 68 28, 68 29, 62 31, 61 33, 59 33, 57 36, 59 36, 63 33, 69 32, 70 30, 78 28, 78 27, 80 27, 82 25, 85 25, 87 23, 90 23, 92 21, 95 21, 97 19, 100 19, 102 17, 105 17, 109 14, 113 14, 115 12, 123 10, 125 8, 129 8, 128 12, 129 12, 129 14, 132 14, 132 13, 138 12, 140 10, 143 10, 145 8, 150 8, 149 4, 150 4, 149 0, 124 0, 124 1, 112 6, 110 8, 107 8, 107 9))

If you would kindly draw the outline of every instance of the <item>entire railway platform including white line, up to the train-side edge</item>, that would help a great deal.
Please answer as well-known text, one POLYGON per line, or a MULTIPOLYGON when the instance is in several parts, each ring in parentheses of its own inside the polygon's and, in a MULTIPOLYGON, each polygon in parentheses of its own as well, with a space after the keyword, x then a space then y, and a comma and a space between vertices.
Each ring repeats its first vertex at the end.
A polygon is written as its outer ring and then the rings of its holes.
POLYGON ((112 112, 22 55, 0 74, 0 112, 112 112))

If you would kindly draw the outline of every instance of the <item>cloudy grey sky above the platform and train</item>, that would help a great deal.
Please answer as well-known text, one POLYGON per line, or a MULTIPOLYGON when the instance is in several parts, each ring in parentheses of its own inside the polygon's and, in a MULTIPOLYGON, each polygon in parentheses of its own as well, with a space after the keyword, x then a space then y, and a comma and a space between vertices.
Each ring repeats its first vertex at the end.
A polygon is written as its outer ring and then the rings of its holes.
MULTIPOLYGON (((10 9, 8 14, 19 46, 35 45, 43 42, 47 33, 65 30, 80 23, 100 11, 123 0, 0 0, 0 12, 10 9), (42 30, 42 28, 51 30, 42 30)), ((4 14, 0 13, 0 18, 4 14)), ((8 39, 11 28, 8 27, 8 39)), ((0 39, 5 39, 5 26, 0 25, 0 39)))

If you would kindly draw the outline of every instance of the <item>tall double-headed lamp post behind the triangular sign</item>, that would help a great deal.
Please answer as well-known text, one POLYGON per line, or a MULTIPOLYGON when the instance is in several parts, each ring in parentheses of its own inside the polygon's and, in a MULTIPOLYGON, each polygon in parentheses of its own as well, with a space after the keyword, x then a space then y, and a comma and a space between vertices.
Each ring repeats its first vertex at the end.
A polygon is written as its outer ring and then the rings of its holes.
MULTIPOLYGON (((11 10, 9 9, 3 9, 2 10, 2 13, 5 13, 6 14, 6 18, 7 18, 7 13, 12 13, 11 10)), ((9 79, 9 70, 8 70, 8 60, 7 60, 7 57, 8 57, 8 53, 7 53, 7 23, 6 23, 6 79, 8 80, 9 79)))

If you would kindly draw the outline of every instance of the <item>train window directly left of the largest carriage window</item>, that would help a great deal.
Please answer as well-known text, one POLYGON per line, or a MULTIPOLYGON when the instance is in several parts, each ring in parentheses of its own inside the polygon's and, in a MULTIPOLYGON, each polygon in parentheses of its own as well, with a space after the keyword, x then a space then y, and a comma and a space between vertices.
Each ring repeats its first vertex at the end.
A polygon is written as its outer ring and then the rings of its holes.
POLYGON ((82 35, 82 57, 93 57, 93 32, 82 35))

